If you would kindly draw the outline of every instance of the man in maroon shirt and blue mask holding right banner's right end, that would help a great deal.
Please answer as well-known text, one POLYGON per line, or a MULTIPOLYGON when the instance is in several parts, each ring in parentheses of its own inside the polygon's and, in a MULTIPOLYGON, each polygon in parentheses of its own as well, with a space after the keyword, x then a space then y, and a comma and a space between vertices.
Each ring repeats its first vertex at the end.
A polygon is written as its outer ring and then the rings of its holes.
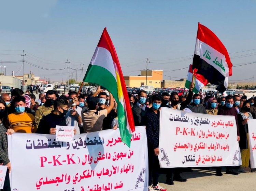
MULTIPOLYGON (((238 121, 237 121, 237 110, 236 108, 233 107, 234 104, 234 99, 232 95, 227 95, 225 97, 226 104, 218 110, 218 115, 221 116, 234 116, 236 119, 236 124, 237 124, 237 141, 240 141, 240 136, 239 136, 239 126, 238 126, 238 121)), ((216 170, 216 175, 217 176, 222 176, 221 172, 222 168, 218 167, 216 170)), ((227 167, 226 174, 233 174, 233 175, 238 175, 239 173, 234 172, 231 167, 227 167)))

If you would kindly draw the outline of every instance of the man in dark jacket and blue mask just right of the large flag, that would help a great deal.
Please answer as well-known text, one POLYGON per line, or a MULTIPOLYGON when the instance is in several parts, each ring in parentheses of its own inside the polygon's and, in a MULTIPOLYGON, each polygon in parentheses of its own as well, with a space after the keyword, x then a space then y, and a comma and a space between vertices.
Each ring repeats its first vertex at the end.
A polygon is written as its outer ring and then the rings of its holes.
POLYGON ((147 92, 141 90, 138 94, 138 102, 132 107, 132 115, 135 126, 146 125, 145 117, 149 108, 145 105, 147 100, 147 92))

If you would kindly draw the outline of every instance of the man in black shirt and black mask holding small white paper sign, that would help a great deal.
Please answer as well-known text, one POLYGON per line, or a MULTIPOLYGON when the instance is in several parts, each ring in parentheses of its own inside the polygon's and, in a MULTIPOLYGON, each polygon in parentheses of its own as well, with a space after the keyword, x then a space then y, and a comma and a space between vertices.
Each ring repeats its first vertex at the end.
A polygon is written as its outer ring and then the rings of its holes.
MULTIPOLYGON (((65 119, 67 112, 68 101, 63 98, 58 98, 54 102, 54 110, 40 120, 36 133, 54 135, 56 132, 56 125, 67 126, 65 119)), ((74 134, 76 134, 76 129, 74 129, 74 134)))

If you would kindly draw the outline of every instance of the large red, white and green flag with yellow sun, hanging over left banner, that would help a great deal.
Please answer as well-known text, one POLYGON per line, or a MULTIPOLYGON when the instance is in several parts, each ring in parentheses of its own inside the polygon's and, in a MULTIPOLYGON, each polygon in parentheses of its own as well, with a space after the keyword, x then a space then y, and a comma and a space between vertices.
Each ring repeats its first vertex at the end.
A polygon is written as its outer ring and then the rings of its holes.
POLYGON ((120 136, 130 147, 131 133, 135 131, 130 101, 115 47, 106 28, 103 30, 83 81, 99 84, 112 93, 117 102, 120 136))

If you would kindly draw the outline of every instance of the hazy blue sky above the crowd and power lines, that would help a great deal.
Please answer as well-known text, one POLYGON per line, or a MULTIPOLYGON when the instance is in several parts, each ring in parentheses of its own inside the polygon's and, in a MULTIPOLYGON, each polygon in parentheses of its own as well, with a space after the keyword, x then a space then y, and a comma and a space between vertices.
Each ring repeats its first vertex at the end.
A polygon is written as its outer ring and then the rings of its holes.
MULTIPOLYGON (((256 1, 5 1, 0 13, 0 59, 22 60, 21 50, 25 50, 24 59, 33 65, 62 69, 69 58, 71 68, 81 69, 83 62, 86 70, 107 27, 124 75, 138 75, 146 68, 146 58, 151 61, 148 69, 185 68, 194 54, 198 22, 211 29, 229 53, 256 49, 255 5, 256 1)), ((230 54, 231 62, 254 62, 254 53, 256 50, 230 54)), ((230 80, 251 78, 255 64, 234 67, 230 80)), ((23 73, 21 62, 3 66, 8 75, 12 70, 23 73)), ((25 63, 25 73, 30 70, 41 78, 67 80, 67 69, 44 70, 25 63)), ((186 77, 187 70, 165 71, 164 79, 186 77)), ((75 71, 69 71, 75 77, 75 71)), ((77 79, 82 77, 78 70, 77 79)))

